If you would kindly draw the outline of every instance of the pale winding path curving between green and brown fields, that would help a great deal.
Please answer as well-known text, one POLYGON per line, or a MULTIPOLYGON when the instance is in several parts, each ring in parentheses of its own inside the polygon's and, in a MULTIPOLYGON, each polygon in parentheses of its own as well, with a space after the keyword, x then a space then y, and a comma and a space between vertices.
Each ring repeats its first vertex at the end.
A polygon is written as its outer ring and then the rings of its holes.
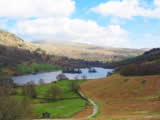
POLYGON ((87 98, 83 95, 83 93, 79 92, 79 94, 86 99, 88 102, 90 102, 93 105, 93 112, 91 115, 89 115, 87 118, 92 118, 93 116, 95 116, 98 112, 98 106, 95 104, 95 102, 91 99, 91 98, 87 98))

